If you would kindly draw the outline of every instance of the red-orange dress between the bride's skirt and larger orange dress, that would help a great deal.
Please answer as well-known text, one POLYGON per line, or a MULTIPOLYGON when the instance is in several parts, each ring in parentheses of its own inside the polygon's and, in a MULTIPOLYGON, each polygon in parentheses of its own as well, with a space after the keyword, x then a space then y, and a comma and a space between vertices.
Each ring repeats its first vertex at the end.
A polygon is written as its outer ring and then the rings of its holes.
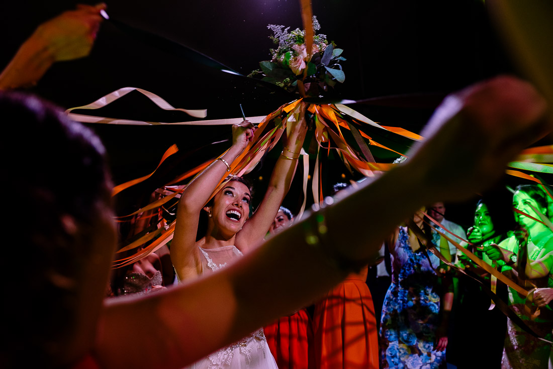
POLYGON ((309 349, 313 332, 311 318, 306 309, 279 318, 273 324, 265 326, 263 331, 279 369, 310 367, 309 349))

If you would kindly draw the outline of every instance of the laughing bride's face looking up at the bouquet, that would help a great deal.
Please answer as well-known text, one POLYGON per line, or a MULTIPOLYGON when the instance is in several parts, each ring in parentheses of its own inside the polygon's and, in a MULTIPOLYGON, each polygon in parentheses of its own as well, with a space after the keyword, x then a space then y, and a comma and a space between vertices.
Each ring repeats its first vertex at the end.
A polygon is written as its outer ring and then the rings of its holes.
POLYGON ((215 226, 236 234, 248 219, 251 200, 248 186, 229 181, 213 200, 210 211, 215 226))

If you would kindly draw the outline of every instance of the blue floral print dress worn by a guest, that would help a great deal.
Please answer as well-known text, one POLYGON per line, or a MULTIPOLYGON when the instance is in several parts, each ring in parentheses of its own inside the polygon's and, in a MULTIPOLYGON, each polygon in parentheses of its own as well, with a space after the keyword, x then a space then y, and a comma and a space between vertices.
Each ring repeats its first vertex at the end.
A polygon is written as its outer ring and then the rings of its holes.
POLYGON ((409 246, 406 227, 399 229, 392 256, 392 284, 380 319, 381 368, 438 368, 445 351, 434 350, 439 326, 440 284, 434 269, 439 259, 409 246))

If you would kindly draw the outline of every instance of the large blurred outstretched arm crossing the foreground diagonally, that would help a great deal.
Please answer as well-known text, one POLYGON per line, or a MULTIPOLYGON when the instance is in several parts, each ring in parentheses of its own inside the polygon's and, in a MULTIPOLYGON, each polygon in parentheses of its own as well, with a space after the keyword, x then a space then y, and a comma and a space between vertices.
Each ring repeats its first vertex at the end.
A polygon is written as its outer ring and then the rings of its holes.
POLYGON ((348 265, 366 264, 420 206, 464 200, 493 184, 547 128, 540 122, 545 111, 534 89, 507 77, 453 96, 400 167, 349 190, 221 272, 107 306, 98 361, 107 368, 182 367, 308 304, 340 282, 348 265), (454 169, 439 175, 444 168, 454 169))

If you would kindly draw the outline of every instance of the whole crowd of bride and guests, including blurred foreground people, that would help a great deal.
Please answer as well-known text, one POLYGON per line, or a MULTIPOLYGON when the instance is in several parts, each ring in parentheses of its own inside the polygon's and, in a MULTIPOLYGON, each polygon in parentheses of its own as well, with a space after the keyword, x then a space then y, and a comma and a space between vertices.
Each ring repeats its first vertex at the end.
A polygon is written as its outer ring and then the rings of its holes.
POLYGON ((3 253, 17 279, 2 306, 12 324, 0 366, 547 367, 549 186, 522 184, 503 202, 483 196, 466 233, 444 219, 444 204, 490 188, 509 160, 551 131, 548 102, 529 82, 499 76, 452 93, 408 160, 337 186, 301 219, 281 205, 306 136, 306 103, 289 122, 255 211, 251 185, 228 173, 256 128, 234 124, 231 147, 182 193, 170 247, 114 276, 121 230, 100 139, 59 107, 9 91, 36 83, 55 61, 85 56, 104 7, 81 6, 40 25, 0 74, 0 111, 12 123, 0 145, 2 189, 19 221, 8 235, 18 247, 3 253), (14 141, 26 155, 14 157, 14 141), (440 175, 446 167, 455 170, 440 175), (448 240, 447 231, 458 237, 448 240), (22 251, 23 275, 14 263, 22 251), (386 255, 390 284, 375 310, 369 269, 384 266, 386 255), (523 323, 505 317, 496 295, 523 323), (448 356, 453 343, 457 355, 448 356), (484 354, 469 357, 478 345, 484 354))

